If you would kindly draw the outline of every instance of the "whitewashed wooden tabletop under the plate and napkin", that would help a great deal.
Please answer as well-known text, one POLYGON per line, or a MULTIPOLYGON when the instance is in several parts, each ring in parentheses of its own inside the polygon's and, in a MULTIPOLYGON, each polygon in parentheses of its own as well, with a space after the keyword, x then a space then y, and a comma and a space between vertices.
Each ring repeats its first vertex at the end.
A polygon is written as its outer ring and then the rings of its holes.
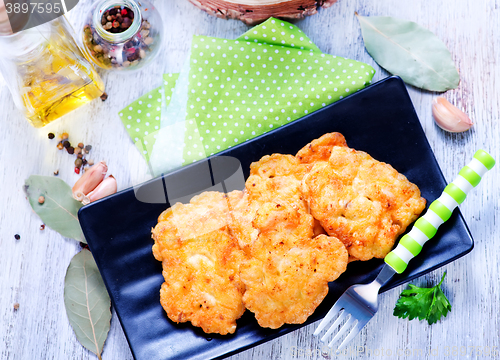
MULTIPOLYGON (((71 11, 75 24, 90 0, 71 11)), ((96 100, 65 118, 34 129, 14 108, 10 93, 0 84, 0 359, 94 359, 76 340, 66 317, 63 284, 66 268, 80 250, 71 239, 50 229, 39 230, 41 220, 31 211, 22 186, 32 174, 52 175, 73 184, 74 157, 59 152, 48 132, 67 131, 74 142, 92 144, 93 158, 106 160, 119 189, 131 185, 131 174, 144 166, 117 115, 118 111, 154 86, 161 74, 178 72, 193 34, 235 38, 247 26, 208 16, 187 0, 157 0, 166 27, 166 39, 156 63, 134 74, 102 73, 109 99, 96 100), (15 234, 20 234, 17 241, 15 234), (14 303, 19 309, 14 311, 14 303)), ((430 145, 447 180, 458 173, 479 148, 500 159, 500 10, 496 0, 339 0, 329 9, 297 25, 327 53, 371 64, 374 81, 388 74, 366 53, 354 16, 390 15, 413 20, 446 43, 460 71, 457 90, 444 96, 475 122, 462 134, 443 132, 433 122, 435 93, 408 87, 430 145)), ((414 281, 426 285, 448 272, 444 292, 453 309, 437 324, 409 322, 392 315, 403 287, 380 297, 375 318, 350 344, 345 359, 357 358, 467 358, 488 359, 487 349, 500 351, 499 178, 500 166, 485 176, 461 206, 475 239, 474 250, 444 268, 414 281), (461 356, 465 352, 466 356, 461 356), (419 355, 419 350, 421 355, 419 355), (476 352, 477 351, 477 352, 476 352), (448 355, 448 356, 447 356, 448 355)), ((104 224, 103 224, 104 225, 104 224)), ((231 359, 335 358, 312 336, 317 324, 234 355, 231 359)), ((500 356, 497 356, 500 357, 500 356)), ((132 359, 122 328, 113 314, 103 359, 132 359)))

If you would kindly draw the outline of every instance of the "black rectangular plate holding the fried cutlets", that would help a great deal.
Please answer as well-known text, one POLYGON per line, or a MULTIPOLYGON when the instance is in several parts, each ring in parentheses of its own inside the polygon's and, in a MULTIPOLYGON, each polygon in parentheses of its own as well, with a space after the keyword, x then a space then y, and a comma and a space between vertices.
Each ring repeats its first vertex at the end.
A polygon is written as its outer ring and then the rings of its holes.
MULTIPOLYGON (((293 123, 259 136, 212 157, 232 156, 241 162, 245 177, 250 163, 272 153, 295 154, 321 135, 338 131, 349 147, 368 152, 391 164, 417 184, 430 204, 446 183, 406 91, 398 77, 384 79, 337 103, 293 123)), ((335 300, 352 284, 372 280, 382 267, 381 259, 349 264, 347 271, 330 284, 323 303, 305 324, 286 325, 277 330, 261 328, 247 311, 238 320, 233 335, 207 335, 188 324, 171 322, 160 305, 163 283, 161 263, 151 252, 151 228, 170 204, 137 199, 163 193, 176 177, 183 182, 182 194, 203 190, 197 180, 207 161, 198 162, 161 178, 139 190, 128 189, 83 207, 79 219, 90 249, 108 288, 132 353, 137 360, 223 358, 274 339, 314 322, 326 314, 335 300)), ((230 175, 230 174, 228 174, 230 175)), ((222 175, 224 177, 224 175, 222 175)), ((217 179, 212 179, 217 183, 217 179)), ((175 181, 174 181, 175 182, 175 181)), ((177 181, 179 183, 179 181, 177 181)), ((205 187, 206 188, 206 187, 205 187)), ((179 189, 176 189, 179 195, 179 189)), ((182 195, 181 194, 181 195, 182 195)), ((159 197, 161 198, 161 196, 159 197)), ((155 196, 155 199, 158 197, 155 196)), ((472 250, 473 240, 459 210, 455 210, 437 235, 410 262, 407 271, 394 277, 382 290, 441 267, 472 250)), ((392 311, 392 309, 382 309, 392 311)))

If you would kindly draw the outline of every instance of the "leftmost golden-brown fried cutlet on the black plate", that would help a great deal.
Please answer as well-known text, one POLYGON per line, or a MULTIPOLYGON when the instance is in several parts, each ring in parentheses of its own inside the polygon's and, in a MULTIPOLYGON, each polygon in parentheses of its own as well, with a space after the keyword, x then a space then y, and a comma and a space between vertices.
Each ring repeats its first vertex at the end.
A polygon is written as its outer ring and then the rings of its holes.
POLYGON ((152 231, 165 282, 160 302, 170 320, 206 333, 231 334, 245 311, 239 266, 245 255, 230 235, 226 196, 205 192, 165 210, 152 231))

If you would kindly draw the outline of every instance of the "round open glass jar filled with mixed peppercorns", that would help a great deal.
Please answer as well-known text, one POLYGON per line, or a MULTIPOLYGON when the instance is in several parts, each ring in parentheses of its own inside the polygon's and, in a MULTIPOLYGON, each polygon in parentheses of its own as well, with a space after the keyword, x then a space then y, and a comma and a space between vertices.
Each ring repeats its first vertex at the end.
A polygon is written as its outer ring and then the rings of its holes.
POLYGON ((101 0, 83 27, 83 47, 103 69, 137 70, 158 53, 163 24, 146 0, 101 0))

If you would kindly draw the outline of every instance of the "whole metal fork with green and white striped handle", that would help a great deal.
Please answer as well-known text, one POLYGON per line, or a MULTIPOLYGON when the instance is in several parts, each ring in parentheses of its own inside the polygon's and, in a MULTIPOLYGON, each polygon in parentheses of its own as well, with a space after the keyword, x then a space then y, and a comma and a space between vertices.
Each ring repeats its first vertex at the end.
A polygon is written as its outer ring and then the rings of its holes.
POLYGON ((408 262, 420 253, 425 242, 436 234, 438 227, 450 218, 453 210, 465 200, 468 192, 479 184, 483 175, 494 165, 495 160, 486 151, 478 150, 472 161, 460 170, 455 180, 432 202, 425 215, 415 222, 411 231, 401 238, 398 246, 387 254, 384 267, 377 278, 369 284, 349 287, 326 314, 313 335, 318 336, 340 312, 321 341, 325 342, 347 318, 328 346, 332 347, 350 328, 351 331, 338 349, 351 341, 377 312, 380 287, 394 274, 401 274, 406 269, 408 262))

